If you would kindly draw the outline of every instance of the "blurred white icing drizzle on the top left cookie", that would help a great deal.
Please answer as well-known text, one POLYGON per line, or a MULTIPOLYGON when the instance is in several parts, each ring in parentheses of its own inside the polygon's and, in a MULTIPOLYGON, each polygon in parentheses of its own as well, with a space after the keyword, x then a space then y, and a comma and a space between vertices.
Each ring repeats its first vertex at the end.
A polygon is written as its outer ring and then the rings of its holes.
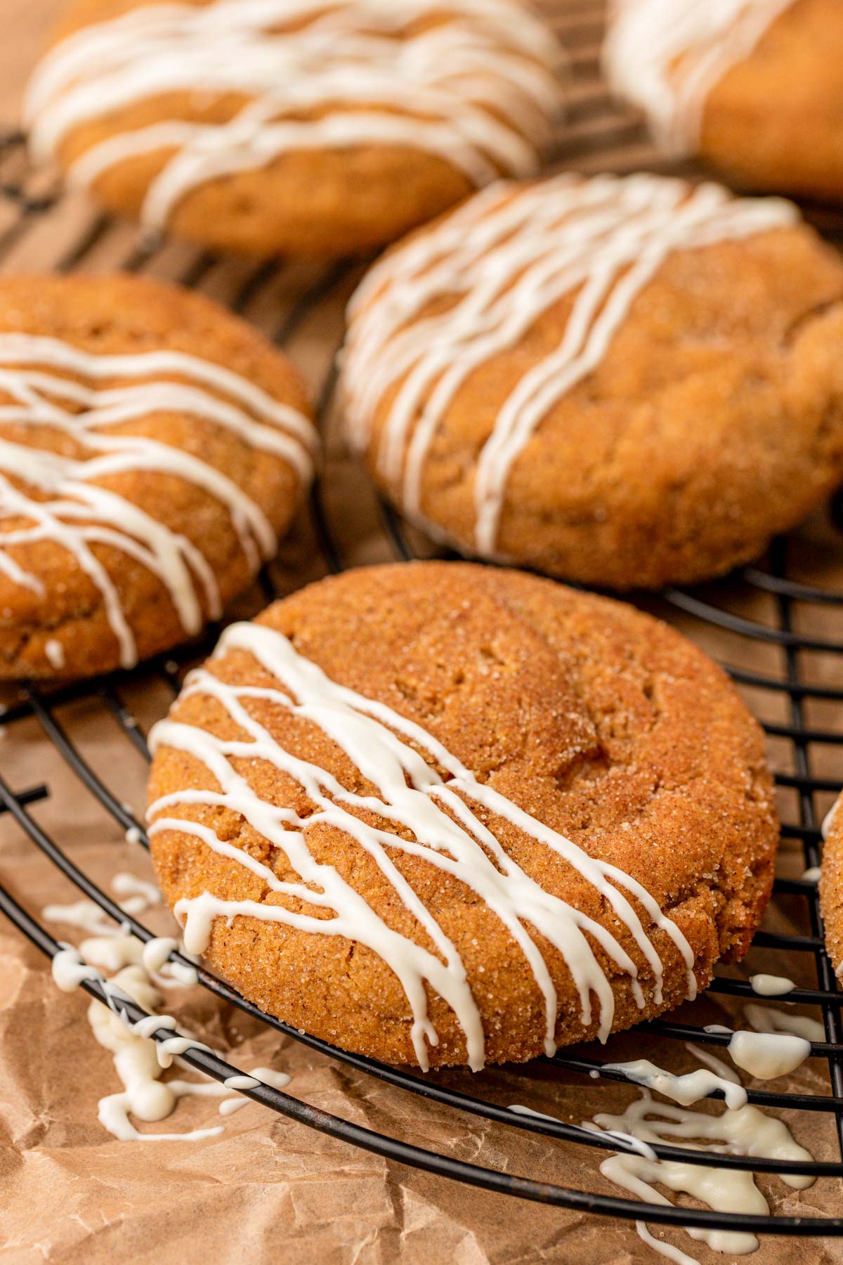
MULTIPOLYGON (((191 190, 298 149, 404 145, 473 185, 528 175, 560 110, 551 33, 512 0, 214 0, 140 5, 49 52, 25 118, 39 159, 77 128, 167 94, 245 97, 229 121, 166 121, 95 143, 90 185, 161 154, 142 219, 159 226, 191 190)), ((176 113, 176 111, 174 111, 176 113)))

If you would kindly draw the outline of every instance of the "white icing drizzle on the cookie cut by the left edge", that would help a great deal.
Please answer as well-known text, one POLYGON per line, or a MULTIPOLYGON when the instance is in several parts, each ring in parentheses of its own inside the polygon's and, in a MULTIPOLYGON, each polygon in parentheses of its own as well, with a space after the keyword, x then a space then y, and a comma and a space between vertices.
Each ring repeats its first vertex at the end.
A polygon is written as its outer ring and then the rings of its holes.
POLYGON ((0 438, 0 572, 43 597, 43 581, 24 569, 16 546, 51 540, 66 549, 100 591, 125 668, 136 663, 134 634, 94 546, 118 549, 157 576, 188 636, 202 627, 203 605, 216 619, 221 601, 201 549, 100 479, 147 471, 202 488, 227 510, 255 571, 277 541, 260 506, 222 471, 195 453, 115 428, 177 412, 288 462, 302 482, 312 472, 315 433, 302 414, 238 373, 185 352, 99 355, 54 338, 0 333, 0 396, 10 401, 0 405, 0 428, 32 431, 34 440, 0 438), (100 386, 120 379, 121 386, 100 386), (83 455, 37 447, 44 431, 72 440, 83 455))

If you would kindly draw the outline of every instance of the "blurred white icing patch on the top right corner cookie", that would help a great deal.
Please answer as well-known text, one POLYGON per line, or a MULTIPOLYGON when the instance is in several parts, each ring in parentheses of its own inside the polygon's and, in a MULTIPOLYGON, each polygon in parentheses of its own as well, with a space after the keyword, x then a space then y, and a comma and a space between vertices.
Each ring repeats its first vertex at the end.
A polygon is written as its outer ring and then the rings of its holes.
POLYGON ((712 89, 794 0, 616 0, 603 48, 612 86, 662 149, 691 153, 712 89))

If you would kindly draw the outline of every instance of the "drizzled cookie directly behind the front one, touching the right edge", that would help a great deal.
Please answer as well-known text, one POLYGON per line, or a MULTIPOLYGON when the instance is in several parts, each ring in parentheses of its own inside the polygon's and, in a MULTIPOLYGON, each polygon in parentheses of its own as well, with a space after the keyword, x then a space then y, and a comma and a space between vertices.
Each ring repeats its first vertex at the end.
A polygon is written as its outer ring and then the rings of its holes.
POLYGON ((777 199, 500 182, 375 263, 349 321, 353 447, 468 554, 704 579, 843 474, 843 261, 777 199))

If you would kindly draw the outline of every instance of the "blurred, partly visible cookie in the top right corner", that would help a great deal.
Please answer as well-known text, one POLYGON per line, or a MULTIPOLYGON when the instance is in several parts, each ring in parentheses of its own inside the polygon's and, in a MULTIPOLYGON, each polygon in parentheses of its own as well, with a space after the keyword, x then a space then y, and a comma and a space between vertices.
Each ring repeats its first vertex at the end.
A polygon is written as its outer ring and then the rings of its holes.
POLYGON ((843 199, 838 0, 616 0, 603 62, 666 153, 747 188, 843 199))

